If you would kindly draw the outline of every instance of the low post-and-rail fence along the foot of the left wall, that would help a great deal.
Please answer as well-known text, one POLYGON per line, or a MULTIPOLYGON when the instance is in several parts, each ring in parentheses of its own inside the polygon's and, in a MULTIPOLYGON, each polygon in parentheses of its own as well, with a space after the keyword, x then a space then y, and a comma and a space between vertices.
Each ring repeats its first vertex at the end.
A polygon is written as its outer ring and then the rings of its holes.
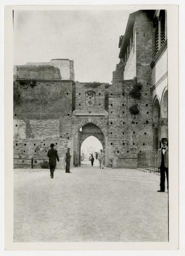
POLYGON ((47 166, 49 167, 48 163, 48 157, 46 158, 14 158, 14 166, 15 168, 21 168, 25 166, 25 168, 29 168, 31 166, 31 169, 34 169, 35 167, 42 167, 42 165, 45 165, 44 168, 47 166))

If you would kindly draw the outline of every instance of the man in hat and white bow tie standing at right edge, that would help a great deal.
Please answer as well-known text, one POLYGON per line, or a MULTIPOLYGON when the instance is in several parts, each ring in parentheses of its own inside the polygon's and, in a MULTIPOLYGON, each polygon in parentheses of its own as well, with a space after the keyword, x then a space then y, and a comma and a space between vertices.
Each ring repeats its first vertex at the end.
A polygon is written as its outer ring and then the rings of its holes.
POLYGON ((157 192, 165 192, 165 172, 167 177, 167 183, 168 183, 168 139, 162 138, 161 139, 162 148, 159 148, 158 153, 158 164, 157 167, 160 168, 160 190, 157 190, 157 192))

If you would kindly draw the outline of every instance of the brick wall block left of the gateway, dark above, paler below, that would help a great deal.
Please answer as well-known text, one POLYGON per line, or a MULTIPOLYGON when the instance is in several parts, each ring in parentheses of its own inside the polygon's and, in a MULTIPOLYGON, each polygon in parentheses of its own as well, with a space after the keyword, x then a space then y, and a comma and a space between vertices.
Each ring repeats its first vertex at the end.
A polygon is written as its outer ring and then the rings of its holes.
POLYGON ((71 145, 72 81, 14 82, 14 157, 47 158, 54 143, 64 168, 71 145))

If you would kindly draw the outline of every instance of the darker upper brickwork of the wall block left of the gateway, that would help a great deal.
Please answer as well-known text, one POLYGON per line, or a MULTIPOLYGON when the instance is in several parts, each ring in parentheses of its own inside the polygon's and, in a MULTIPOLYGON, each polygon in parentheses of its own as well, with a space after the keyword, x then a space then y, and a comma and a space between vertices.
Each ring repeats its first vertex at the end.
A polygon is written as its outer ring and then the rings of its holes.
POLYGON ((72 81, 16 81, 14 83, 15 119, 70 118, 72 81))

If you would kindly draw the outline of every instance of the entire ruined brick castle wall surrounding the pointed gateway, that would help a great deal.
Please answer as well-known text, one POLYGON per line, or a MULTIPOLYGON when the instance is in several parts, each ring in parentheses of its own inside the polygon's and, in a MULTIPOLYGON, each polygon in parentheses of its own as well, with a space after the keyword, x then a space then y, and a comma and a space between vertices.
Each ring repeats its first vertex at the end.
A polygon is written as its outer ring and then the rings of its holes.
MULTIPOLYGON (((14 79, 17 79, 14 83, 14 156, 46 157, 50 143, 57 143, 63 161, 68 146, 72 148, 71 154, 76 152, 79 159, 79 129, 93 123, 106 137, 108 158, 113 158, 113 167, 136 168, 137 153, 152 150, 153 144, 152 32, 150 18, 145 12, 139 12, 134 24, 131 54, 125 67, 122 59, 117 64, 111 85, 54 81, 61 79, 56 67, 39 66, 37 71, 29 66, 27 71, 23 66, 17 66, 18 70, 14 68, 14 79), (142 84, 139 100, 129 94, 135 83, 134 76, 142 84), (43 77, 52 81, 38 81, 43 77), (34 80, 24 82, 18 79, 34 80), (93 107, 85 106, 85 92, 88 90, 95 93, 93 107), (129 111, 134 104, 139 109, 138 115, 131 115, 129 111)), ((69 61, 69 76, 74 81, 73 61, 69 61)), ((64 167, 64 163, 62 165, 64 167)))

